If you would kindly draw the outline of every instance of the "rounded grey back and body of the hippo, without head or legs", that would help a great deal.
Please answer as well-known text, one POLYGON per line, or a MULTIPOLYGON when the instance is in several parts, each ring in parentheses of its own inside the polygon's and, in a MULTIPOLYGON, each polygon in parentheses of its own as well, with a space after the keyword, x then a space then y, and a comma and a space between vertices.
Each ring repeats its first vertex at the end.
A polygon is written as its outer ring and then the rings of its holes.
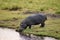
POLYGON ((34 14, 34 15, 27 17, 23 22, 25 24, 34 25, 34 24, 40 24, 43 21, 45 21, 45 15, 34 14))

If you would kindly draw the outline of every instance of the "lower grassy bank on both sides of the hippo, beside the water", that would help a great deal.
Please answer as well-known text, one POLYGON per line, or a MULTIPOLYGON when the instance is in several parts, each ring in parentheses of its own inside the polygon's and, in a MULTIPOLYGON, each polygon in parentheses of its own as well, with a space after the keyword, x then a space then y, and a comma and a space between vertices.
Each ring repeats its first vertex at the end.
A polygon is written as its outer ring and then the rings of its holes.
MULTIPOLYGON (((29 15, 31 14, 19 14, 19 12, 1 11, 0 26, 17 29, 21 21, 29 15)), ((40 25, 33 25, 32 29, 27 28, 24 33, 60 38, 60 19, 48 17, 44 28, 40 28, 40 25)))

